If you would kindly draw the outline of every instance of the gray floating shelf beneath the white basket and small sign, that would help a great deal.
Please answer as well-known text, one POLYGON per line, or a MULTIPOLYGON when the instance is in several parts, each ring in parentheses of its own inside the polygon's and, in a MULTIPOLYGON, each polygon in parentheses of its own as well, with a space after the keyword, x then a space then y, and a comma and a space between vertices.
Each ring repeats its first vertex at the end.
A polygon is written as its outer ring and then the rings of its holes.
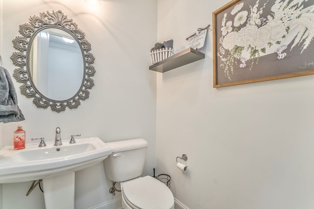
POLYGON ((155 63, 154 65, 149 66, 149 69, 159 73, 164 73, 204 58, 204 53, 194 50, 193 48, 187 48, 155 63))

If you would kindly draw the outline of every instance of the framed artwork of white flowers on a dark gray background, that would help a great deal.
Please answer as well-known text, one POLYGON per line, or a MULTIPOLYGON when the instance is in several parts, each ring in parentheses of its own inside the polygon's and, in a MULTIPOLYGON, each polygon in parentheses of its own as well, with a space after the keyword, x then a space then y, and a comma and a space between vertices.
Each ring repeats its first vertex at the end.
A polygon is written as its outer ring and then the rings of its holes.
POLYGON ((314 0, 233 0, 213 12, 213 87, 314 74, 314 0))

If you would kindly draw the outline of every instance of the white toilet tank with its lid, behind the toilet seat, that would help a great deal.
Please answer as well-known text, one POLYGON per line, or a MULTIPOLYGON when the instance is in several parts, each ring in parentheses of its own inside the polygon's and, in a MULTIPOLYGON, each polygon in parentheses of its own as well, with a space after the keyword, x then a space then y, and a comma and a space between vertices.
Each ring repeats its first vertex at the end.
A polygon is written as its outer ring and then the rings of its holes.
POLYGON ((112 182, 124 182, 143 173, 148 143, 145 139, 131 139, 106 143, 112 153, 105 158, 105 172, 112 182))

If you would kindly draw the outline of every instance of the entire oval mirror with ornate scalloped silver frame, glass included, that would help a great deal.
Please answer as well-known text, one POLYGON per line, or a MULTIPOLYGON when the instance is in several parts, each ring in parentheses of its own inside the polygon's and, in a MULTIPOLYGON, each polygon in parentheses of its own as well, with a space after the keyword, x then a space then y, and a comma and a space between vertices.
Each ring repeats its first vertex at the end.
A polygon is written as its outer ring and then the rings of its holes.
POLYGON ((77 108, 94 85, 94 56, 91 45, 77 24, 62 11, 40 13, 21 25, 12 42, 13 77, 23 83, 21 93, 34 98, 39 108, 61 112, 77 108))

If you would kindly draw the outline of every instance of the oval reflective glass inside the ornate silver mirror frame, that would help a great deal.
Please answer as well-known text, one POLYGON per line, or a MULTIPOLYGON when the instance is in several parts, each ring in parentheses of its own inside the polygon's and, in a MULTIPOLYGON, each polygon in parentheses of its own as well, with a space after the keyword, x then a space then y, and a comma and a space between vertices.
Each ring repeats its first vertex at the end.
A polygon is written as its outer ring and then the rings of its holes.
POLYGON ((60 28, 38 30, 29 43, 30 80, 43 97, 64 101, 75 96, 84 77, 83 55, 76 39, 60 28))

